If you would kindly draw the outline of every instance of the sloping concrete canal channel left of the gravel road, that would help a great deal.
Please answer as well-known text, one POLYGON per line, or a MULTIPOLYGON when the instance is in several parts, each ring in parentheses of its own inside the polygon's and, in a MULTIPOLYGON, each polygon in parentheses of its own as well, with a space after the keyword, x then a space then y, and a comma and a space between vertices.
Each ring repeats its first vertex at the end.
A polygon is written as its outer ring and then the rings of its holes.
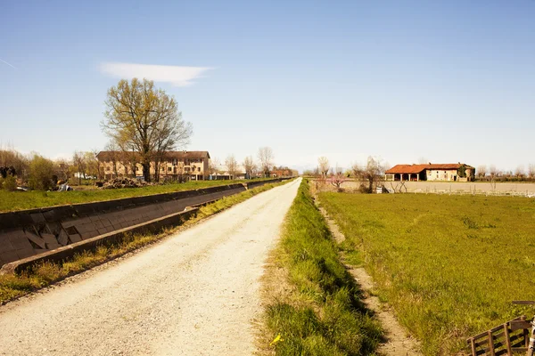
POLYGON ((0 214, 0 266, 282 179, 0 214))

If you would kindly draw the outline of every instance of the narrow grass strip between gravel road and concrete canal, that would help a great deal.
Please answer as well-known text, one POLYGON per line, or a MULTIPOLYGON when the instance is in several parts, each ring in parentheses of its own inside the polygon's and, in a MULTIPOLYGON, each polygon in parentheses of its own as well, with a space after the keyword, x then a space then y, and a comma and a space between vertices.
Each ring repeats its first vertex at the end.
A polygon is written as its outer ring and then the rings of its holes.
POLYGON ((103 245, 98 247, 95 251, 85 251, 63 263, 39 263, 34 266, 31 271, 21 273, 20 275, 0 275, 0 303, 5 303, 21 295, 29 294, 38 288, 46 287, 70 275, 86 271, 96 265, 125 255, 139 247, 152 244, 153 242, 169 236, 170 233, 191 226, 193 223, 197 223, 207 216, 216 214, 227 207, 234 206, 262 191, 270 190, 278 185, 285 184, 286 182, 268 183, 230 197, 221 198, 207 206, 202 206, 197 213, 197 216, 186 221, 183 225, 165 229, 159 234, 125 235, 122 242, 119 244, 110 246, 103 245))

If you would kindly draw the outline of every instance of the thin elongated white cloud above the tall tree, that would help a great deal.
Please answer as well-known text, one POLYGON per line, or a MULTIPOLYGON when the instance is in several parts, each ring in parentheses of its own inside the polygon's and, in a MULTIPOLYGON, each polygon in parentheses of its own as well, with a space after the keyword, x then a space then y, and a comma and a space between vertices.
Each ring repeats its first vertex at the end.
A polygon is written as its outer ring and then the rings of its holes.
POLYGON ((105 62, 100 66, 103 73, 111 77, 147 78, 155 82, 171 83, 175 86, 191 85, 193 79, 202 76, 209 67, 159 66, 153 64, 136 64, 105 62))

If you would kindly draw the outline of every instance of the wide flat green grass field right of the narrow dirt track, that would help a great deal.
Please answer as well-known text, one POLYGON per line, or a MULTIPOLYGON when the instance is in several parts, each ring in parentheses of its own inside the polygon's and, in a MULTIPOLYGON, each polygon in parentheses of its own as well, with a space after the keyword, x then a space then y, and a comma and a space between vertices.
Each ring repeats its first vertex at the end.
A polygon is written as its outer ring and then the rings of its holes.
POLYGON ((535 200, 412 194, 321 193, 401 324, 427 355, 453 354, 465 338, 532 310, 535 200))

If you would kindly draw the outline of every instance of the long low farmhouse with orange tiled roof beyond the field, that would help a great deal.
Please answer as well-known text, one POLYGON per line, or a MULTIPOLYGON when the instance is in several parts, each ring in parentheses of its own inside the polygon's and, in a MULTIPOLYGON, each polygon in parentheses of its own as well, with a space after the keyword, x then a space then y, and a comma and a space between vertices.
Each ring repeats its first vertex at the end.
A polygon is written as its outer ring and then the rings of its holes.
POLYGON ((427 165, 397 165, 384 173, 386 181, 419 182, 446 181, 470 182, 475 177, 475 168, 464 163, 427 165))

